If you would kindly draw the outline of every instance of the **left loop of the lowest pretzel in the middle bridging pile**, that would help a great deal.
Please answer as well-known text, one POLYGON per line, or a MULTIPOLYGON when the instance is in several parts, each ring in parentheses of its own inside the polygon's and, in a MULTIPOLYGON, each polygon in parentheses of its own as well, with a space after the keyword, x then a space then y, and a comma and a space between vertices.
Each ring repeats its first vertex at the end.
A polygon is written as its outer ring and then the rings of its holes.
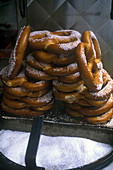
POLYGON ((29 65, 26 66, 25 73, 30 78, 33 78, 35 80, 53 80, 55 79, 55 76, 48 75, 44 71, 34 69, 30 67, 29 65))

